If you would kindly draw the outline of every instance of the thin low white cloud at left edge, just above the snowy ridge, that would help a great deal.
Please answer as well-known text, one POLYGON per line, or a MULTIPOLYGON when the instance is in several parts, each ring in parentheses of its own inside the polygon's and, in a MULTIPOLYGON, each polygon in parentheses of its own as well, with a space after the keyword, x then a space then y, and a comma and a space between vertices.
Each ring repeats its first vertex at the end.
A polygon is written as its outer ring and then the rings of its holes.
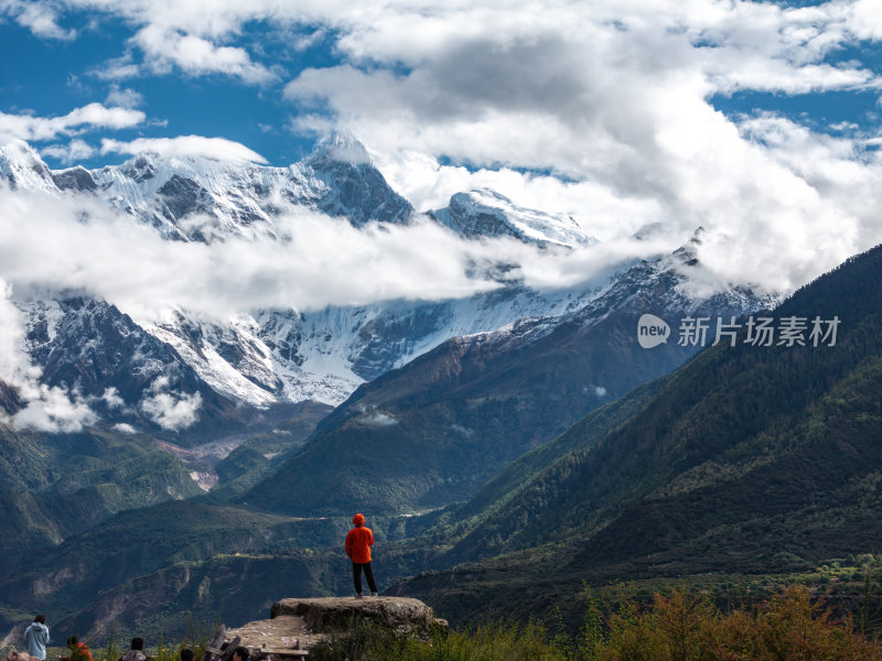
POLYGON ((130 108, 106 108, 89 104, 75 108, 61 117, 8 115, 0 112, 0 142, 14 138, 26 141, 53 140, 61 134, 73 134, 94 129, 126 129, 144 121, 146 115, 130 108))

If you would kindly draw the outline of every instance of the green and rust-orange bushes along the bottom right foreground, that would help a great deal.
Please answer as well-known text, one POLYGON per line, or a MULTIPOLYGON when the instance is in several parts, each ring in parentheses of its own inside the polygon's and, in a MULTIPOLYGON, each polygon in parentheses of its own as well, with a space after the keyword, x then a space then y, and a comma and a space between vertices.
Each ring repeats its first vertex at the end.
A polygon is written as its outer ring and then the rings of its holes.
POLYGON ((642 608, 625 599, 604 614, 589 599, 577 636, 550 636, 536 625, 497 624, 473 631, 437 632, 423 642, 355 624, 346 636, 314 649, 312 661, 802 661, 882 660, 882 644, 836 620, 804 587, 753 609, 728 614, 675 589, 642 608))

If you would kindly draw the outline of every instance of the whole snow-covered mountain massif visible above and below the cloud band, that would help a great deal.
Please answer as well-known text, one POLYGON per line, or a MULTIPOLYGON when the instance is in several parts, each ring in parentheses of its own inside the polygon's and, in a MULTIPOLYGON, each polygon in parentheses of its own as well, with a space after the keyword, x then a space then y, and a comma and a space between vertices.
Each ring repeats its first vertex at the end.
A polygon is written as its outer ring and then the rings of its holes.
MULTIPOLYGON (((14 142, 0 148, 0 175, 14 189, 97 198, 136 223, 155 227, 166 239, 208 245, 228 237, 287 240, 276 224, 286 204, 345 217, 356 227, 407 224, 413 216, 410 203, 391 189, 364 145, 340 134, 289 167, 142 153, 99 170, 52 171, 26 143, 14 142)), ((488 189, 456 194, 448 208, 430 216, 470 240, 509 236, 563 248, 594 242, 572 218, 519 207, 488 189)), ((682 266, 647 262, 644 268, 663 274, 682 266)), ((202 411, 195 418, 229 413, 236 404, 249 410, 304 400, 336 405, 361 383, 452 337, 488 332, 519 336, 525 327, 538 336, 579 311, 602 315, 591 303, 617 282, 540 293, 506 280, 504 271, 499 289, 461 300, 252 310, 223 322, 186 310, 175 310, 161 322, 136 322, 82 296, 18 303, 28 325, 29 354, 47 382, 90 398, 103 414, 110 415, 118 404, 131 412, 129 422, 173 429, 171 419, 150 402, 163 402, 179 413, 187 407, 202 411)), ((624 271, 619 278, 633 277, 624 271)), ((679 280, 666 282, 671 296, 686 295, 678 293, 679 280)), ((759 299, 745 290, 743 307, 757 305, 759 299)), ((185 422, 179 429, 186 429, 185 422)))

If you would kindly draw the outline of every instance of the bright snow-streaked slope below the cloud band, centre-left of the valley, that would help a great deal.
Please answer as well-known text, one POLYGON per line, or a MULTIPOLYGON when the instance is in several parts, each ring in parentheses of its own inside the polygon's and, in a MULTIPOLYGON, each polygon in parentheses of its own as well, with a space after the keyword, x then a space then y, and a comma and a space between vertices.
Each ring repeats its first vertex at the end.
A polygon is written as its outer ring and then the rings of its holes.
POLYGON ((314 400, 336 405, 361 383, 450 337, 558 316, 592 293, 510 288, 444 302, 392 301, 316 312, 262 311, 225 326, 179 312, 146 329, 219 392, 254 405, 314 400))

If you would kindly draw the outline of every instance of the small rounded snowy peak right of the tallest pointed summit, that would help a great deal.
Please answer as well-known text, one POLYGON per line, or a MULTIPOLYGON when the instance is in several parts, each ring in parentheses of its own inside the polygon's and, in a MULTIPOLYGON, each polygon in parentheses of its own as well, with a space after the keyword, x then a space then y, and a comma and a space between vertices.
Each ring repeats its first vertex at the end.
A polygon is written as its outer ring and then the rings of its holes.
POLYGON ((596 242, 572 217, 518 206, 490 188, 456 193, 450 198, 450 206, 429 215, 467 239, 510 236, 544 248, 596 242))

